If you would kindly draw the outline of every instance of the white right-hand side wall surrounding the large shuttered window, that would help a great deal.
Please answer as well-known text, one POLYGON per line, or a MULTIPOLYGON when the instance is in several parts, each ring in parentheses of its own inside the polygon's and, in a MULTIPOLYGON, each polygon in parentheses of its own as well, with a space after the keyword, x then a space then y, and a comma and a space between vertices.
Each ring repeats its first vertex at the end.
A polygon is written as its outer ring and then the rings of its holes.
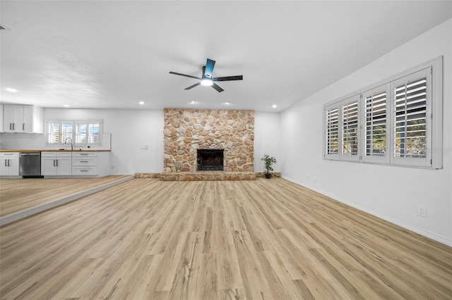
POLYGON ((451 39, 452 19, 284 111, 283 177, 452 246, 451 39), (323 104, 441 55, 444 56, 442 170, 322 159, 323 104), (417 215, 418 205, 427 207, 427 218, 417 215))

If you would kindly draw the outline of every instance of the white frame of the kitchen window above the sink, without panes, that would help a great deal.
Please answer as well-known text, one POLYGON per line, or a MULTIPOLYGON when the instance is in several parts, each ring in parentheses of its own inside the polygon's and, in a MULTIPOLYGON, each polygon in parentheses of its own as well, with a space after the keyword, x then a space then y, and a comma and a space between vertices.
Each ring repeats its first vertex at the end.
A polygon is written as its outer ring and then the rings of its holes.
POLYGON ((64 146, 67 145, 65 143, 65 140, 63 139, 63 132, 61 128, 63 127, 63 124, 72 124, 72 130, 71 130, 71 137, 67 137, 72 139, 73 146, 101 146, 102 145, 102 130, 103 130, 103 124, 102 119, 48 119, 46 120, 46 130, 45 133, 47 135, 46 144, 47 146, 64 146), (59 142, 52 143, 49 142, 49 125, 50 124, 59 124, 59 142), (86 124, 87 127, 89 127, 90 124, 98 124, 99 127, 99 135, 97 138, 97 142, 89 142, 88 134, 86 136, 85 142, 76 142, 77 137, 77 125, 78 124, 86 124))

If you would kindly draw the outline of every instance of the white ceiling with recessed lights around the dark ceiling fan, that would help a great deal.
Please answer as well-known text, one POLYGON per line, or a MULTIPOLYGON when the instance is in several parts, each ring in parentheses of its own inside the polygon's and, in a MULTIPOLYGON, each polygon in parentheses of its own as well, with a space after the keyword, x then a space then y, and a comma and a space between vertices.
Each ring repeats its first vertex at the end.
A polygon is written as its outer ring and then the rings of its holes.
POLYGON ((452 18, 452 1, 1 0, 0 9, 2 103, 71 108, 282 111, 452 18), (169 74, 201 76, 206 58, 214 77, 244 80, 218 82, 218 93, 184 90, 196 80, 169 74))

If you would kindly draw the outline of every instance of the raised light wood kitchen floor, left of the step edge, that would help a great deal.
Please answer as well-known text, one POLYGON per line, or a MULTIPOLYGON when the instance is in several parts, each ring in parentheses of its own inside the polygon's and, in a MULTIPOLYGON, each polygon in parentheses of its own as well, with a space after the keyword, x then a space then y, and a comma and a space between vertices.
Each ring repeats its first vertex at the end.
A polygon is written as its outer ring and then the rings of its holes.
POLYGON ((105 185, 126 176, 0 179, 0 217, 105 185))

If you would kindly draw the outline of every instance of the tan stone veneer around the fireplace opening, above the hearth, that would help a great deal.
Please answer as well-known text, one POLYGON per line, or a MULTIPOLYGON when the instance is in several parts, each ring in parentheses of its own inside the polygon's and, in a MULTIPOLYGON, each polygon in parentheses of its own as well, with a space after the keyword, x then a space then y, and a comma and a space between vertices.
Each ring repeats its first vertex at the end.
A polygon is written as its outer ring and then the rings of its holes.
POLYGON ((165 172, 196 172, 198 149, 223 152, 223 171, 254 172, 254 111, 164 109, 165 172))

